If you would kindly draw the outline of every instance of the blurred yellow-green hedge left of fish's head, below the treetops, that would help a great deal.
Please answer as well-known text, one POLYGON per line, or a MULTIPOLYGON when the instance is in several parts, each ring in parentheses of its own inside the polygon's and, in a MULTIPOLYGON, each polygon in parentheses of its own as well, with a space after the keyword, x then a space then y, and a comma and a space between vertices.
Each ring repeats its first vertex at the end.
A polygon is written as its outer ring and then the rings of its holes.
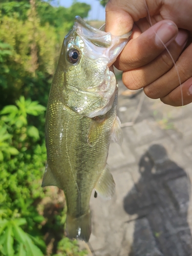
POLYGON ((18 20, 14 16, 0 16, 2 40, 0 104, 2 106, 13 104, 20 94, 38 99, 46 105, 50 79, 54 74, 57 35, 54 28, 49 25, 40 27, 38 19, 35 22, 35 28, 33 25, 33 20, 26 20, 24 23, 23 20, 18 20), (33 40, 35 40, 38 59, 38 70, 35 75, 33 72, 35 63, 31 56, 33 40))

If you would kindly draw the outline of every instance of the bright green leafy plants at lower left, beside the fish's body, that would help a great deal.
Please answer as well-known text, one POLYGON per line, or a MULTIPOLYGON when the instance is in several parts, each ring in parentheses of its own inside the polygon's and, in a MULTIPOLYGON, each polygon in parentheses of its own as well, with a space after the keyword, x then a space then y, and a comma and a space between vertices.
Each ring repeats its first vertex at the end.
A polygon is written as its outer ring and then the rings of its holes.
POLYGON ((38 116, 44 111, 44 106, 25 100, 23 96, 16 105, 7 105, 1 111, 0 160, 9 160, 0 165, 0 251, 6 256, 25 253, 41 256, 46 249, 41 239, 41 227, 36 227, 44 217, 33 205, 34 200, 44 195, 39 180, 46 162, 46 149, 45 143, 38 145, 34 142, 39 135, 31 132, 29 137, 28 134, 29 115, 38 116), (31 230, 36 230, 33 236, 31 230))

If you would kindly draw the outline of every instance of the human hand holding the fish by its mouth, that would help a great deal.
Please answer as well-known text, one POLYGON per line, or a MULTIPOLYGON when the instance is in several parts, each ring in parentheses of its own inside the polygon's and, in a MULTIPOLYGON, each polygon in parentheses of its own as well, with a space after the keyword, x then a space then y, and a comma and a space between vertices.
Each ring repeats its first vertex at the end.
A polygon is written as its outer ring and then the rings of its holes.
POLYGON ((106 31, 122 35, 133 26, 132 39, 115 67, 123 71, 122 80, 127 88, 143 88, 148 97, 160 98, 169 105, 188 104, 192 102, 192 2, 146 2, 152 27, 145 0, 110 0, 106 5, 106 31), (174 62, 162 41, 176 62, 181 87, 174 62))

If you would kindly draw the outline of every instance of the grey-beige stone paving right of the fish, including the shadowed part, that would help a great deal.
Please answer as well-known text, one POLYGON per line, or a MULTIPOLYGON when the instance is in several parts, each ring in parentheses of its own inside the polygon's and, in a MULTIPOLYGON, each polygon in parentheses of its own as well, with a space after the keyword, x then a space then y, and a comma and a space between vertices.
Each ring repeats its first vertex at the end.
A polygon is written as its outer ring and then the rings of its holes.
MULTIPOLYGON (((119 96, 121 123, 132 121, 142 94, 119 96)), ((135 124, 122 129, 122 146, 110 146, 116 195, 91 198, 93 255, 192 255, 191 125, 192 104, 174 108, 144 98, 135 124)))

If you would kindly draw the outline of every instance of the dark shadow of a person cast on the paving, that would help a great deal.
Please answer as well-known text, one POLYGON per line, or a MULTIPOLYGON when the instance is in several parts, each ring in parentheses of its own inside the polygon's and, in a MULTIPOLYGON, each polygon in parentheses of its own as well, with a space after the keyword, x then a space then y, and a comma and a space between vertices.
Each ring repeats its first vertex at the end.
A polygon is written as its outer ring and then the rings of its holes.
POLYGON ((141 157, 139 172, 140 180, 123 202, 127 214, 138 215, 129 256, 192 255, 185 171, 154 144, 141 157))

